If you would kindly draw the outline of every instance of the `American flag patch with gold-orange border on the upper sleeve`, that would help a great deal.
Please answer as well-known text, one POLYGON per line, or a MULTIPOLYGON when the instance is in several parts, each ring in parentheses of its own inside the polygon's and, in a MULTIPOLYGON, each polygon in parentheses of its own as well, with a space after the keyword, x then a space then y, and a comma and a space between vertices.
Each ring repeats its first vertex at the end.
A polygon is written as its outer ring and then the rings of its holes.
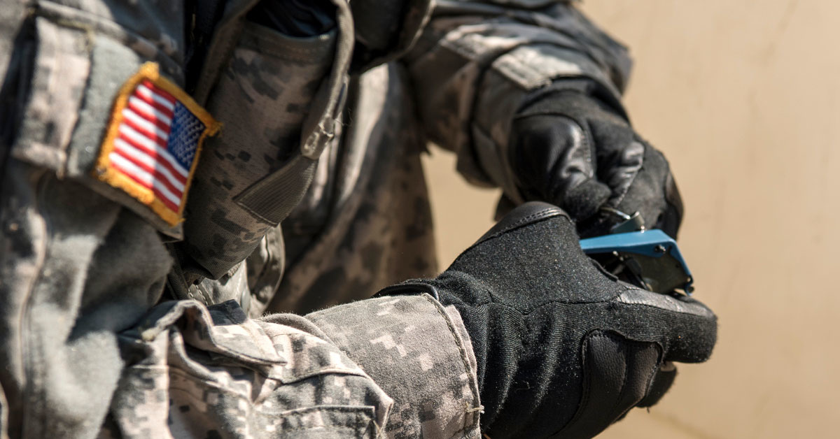
POLYGON ((186 193, 205 138, 219 123, 146 63, 120 90, 94 175, 181 222, 186 193))

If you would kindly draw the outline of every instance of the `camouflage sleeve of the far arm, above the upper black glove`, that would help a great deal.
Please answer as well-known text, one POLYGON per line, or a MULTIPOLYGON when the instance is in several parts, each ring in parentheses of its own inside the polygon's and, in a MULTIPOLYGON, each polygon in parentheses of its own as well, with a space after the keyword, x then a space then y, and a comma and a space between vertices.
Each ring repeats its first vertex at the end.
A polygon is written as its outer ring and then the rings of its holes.
POLYGON ((585 77, 619 97, 631 64, 571 2, 546 0, 438 1, 404 60, 430 140, 458 154, 471 182, 506 189, 512 116, 528 93, 585 77))

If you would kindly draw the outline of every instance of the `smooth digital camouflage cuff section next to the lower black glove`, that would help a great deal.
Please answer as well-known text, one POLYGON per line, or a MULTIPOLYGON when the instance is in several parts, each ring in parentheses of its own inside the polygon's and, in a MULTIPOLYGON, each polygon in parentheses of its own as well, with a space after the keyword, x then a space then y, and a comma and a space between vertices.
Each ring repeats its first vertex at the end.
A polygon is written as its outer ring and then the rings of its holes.
POLYGON ((454 307, 386 296, 307 318, 393 398, 387 437, 480 437, 475 355, 454 307))

